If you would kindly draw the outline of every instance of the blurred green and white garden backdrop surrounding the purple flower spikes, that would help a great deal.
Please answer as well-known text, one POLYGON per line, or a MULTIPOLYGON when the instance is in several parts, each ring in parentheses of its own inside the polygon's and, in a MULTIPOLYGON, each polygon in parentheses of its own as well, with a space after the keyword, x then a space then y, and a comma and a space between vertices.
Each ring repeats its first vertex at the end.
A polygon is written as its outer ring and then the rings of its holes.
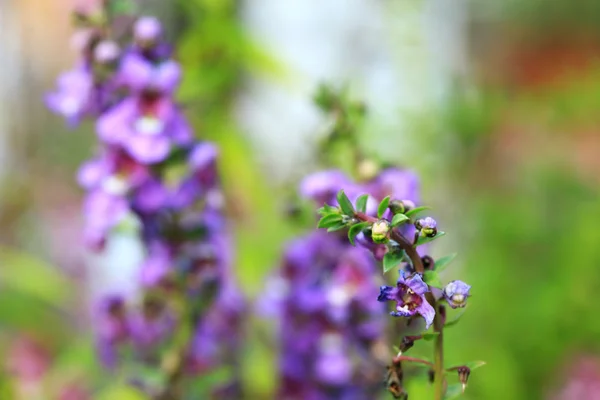
MULTIPOLYGON (((136 290, 139 243, 123 233, 100 256, 83 249, 75 172, 93 126, 69 131, 42 100, 75 59, 71 7, 0 2, 2 399, 137 398, 96 365, 89 302, 136 290)), ((307 231, 284 214, 327 127, 312 96, 346 85, 368 106, 362 146, 419 172, 450 233, 434 254, 458 251, 447 278, 473 285, 446 336, 450 364, 487 362, 464 398, 600 398, 599 2, 155 0, 139 11, 166 22, 179 98, 222 148, 250 298, 282 244, 307 231)), ((244 385, 268 399, 275 349, 263 322, 251 325, 244 385)))

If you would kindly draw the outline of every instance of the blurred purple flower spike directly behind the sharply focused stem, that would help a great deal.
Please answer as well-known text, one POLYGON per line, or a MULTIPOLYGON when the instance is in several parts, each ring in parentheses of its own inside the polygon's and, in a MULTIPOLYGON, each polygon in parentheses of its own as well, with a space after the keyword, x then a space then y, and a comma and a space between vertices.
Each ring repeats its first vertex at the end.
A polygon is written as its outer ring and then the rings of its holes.
MULTIPOLYGON (((374 215, 385 196, 418 202, 414 174, 395 168, 356 183, 337 170, 318 172, 300 184, 302 197, 337 204, 344 188, 350 198, 371 193, 374 215)), ((292 241, 281 267, 268 282, 261 306, 280 319, 280 398, 370 398, 379 390, 377 347, 384 339, 385 312, 375 301, 381 284, 372 251, 385 246, 367 237, 348 243, 345 235, 313 232, 292 241)))

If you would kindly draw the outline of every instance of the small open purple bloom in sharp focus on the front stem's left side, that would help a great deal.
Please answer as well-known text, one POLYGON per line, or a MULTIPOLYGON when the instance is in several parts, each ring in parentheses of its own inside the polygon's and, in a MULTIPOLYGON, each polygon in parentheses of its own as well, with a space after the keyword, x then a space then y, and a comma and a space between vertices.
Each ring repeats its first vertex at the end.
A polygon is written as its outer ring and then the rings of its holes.
POLYGON ((425 299, 425 293, 429 287, 421 275, 415 273, 408 278, 404 277, 404 271, 400 271, 400 277, 396 287, 381 286, 378 301, 395 301, 396 311, 390 314, 395 317, 412 317, 420 314, 429 328, 435 316, 435 310, 425 299))

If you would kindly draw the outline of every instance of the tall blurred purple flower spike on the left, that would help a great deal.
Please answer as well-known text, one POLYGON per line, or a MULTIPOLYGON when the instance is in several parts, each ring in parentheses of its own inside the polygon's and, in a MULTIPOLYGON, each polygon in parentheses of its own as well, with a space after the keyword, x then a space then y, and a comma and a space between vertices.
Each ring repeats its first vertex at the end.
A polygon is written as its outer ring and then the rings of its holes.
POLYGON ((70 123, 96 120, 100 151, 78 176, 87 192, 86 244, 102 250, 111 231, 133 218, 147 253, 141 304, 111 296, 95 311, 99 354, 107 366, 126 348, 152 360, 185 323, 170 301, 183 293, 190 304, 210 304, 192 312, 201 315, 191 321, 187 368, 211 368, 235 351, 245 307, 230 271, 218 149, 194 140, 174 99, 181 68, 162 41, 160 22, 139 18, 131 45, 121 49, 109 29, 90 21, 76 33, 80 62, 46 100, 70 123))

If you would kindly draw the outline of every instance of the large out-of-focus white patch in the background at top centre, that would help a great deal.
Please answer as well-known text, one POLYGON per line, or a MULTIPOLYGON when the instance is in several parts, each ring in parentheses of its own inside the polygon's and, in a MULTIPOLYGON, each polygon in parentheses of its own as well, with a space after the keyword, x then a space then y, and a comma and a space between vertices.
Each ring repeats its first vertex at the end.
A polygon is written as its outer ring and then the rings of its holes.
POLYGON ((443 101, 466 75, 464 0, 245 0, 242 10, 250 35, 286 71, 250 78, 237 110, 276 180, 310 170, 323 129, 311 102, 319 83, 347 85, 377 136, 398 143, 410 140, 403 115, 443 101))

